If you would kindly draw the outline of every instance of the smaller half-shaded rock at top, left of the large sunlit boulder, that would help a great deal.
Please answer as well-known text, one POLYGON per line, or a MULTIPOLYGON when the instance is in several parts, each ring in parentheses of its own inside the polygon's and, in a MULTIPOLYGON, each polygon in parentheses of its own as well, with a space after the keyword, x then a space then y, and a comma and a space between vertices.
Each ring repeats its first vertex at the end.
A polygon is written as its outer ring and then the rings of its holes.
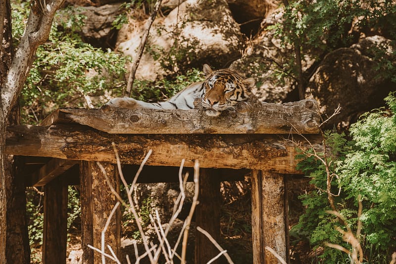
POLYGON ((120 5, 80 7, 80 13, 87 16, 80 33, 83 40, 96 48, 114 48, 117 32, 112 28, 112 23, 120 13, 120 5))

